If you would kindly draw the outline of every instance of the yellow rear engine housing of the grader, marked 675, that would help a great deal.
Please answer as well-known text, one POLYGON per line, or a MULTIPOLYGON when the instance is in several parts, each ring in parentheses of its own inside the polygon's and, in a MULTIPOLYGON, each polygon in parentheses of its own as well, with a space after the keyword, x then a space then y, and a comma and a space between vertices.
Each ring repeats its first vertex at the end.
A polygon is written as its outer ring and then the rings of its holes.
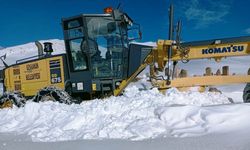
POLYGON ((20 91, 25 96, 33 96, 46 86, 64 89, 63 57, 49 57, 5 69, 7 91, 20 91))

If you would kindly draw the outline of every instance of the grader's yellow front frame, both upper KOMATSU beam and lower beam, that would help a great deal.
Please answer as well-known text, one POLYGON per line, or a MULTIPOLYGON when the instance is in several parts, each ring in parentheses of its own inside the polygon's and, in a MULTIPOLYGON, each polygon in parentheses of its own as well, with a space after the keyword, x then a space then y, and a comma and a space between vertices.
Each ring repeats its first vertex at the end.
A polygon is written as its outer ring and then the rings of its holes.
MULTIPOLYGON (((172 47, 171 61, 189 61, 193 59, 215 59, 220 62, 223 57, 246 56, 250 55, 250 37, 225 38, 217 40, 207 40, 198 42, 175 44, 175 41, 159 40, 157 47, 153 49, 153 62, 157 65, 152 66, 151 70, 163 71, 168 61, 168 47, 172 47), (156 67, 157 66, 157 67, 156 67)), ((169 87, 191 87, 223 85, 232 83, 250 82, 250 75, 230 75, 227 67, 222 74, 212 75, 205 73, 204 76, 183 77, 172 79, 170 84, 166 80, 157 80, 157 73, 151 71, 153 85, 159 89, 169 87)), ((247 72, 247 71, 246 71, 247 72)), ((178 77, 178 76, 177 76, 178 77)))

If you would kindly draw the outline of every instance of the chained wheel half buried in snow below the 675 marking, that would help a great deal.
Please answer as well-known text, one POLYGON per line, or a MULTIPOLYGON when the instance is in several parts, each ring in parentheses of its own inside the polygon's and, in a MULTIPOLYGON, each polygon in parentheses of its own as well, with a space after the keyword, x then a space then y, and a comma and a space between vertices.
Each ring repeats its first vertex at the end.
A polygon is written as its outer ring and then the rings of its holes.
POLYGON ((33 98, 34 102, 57 101, 64 104, 72 104, 71 96, 64 90, 49 86, 41 89, 33 98))

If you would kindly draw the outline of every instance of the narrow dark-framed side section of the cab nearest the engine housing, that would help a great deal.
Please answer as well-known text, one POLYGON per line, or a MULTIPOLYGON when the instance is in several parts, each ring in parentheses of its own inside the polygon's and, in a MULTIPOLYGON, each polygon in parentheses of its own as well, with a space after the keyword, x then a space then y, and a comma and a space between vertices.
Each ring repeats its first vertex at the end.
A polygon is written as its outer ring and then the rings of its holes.
POLYGON ((73 93, 91 92, 91 72, 84 17, 63 20, 65 46, 73 93))

